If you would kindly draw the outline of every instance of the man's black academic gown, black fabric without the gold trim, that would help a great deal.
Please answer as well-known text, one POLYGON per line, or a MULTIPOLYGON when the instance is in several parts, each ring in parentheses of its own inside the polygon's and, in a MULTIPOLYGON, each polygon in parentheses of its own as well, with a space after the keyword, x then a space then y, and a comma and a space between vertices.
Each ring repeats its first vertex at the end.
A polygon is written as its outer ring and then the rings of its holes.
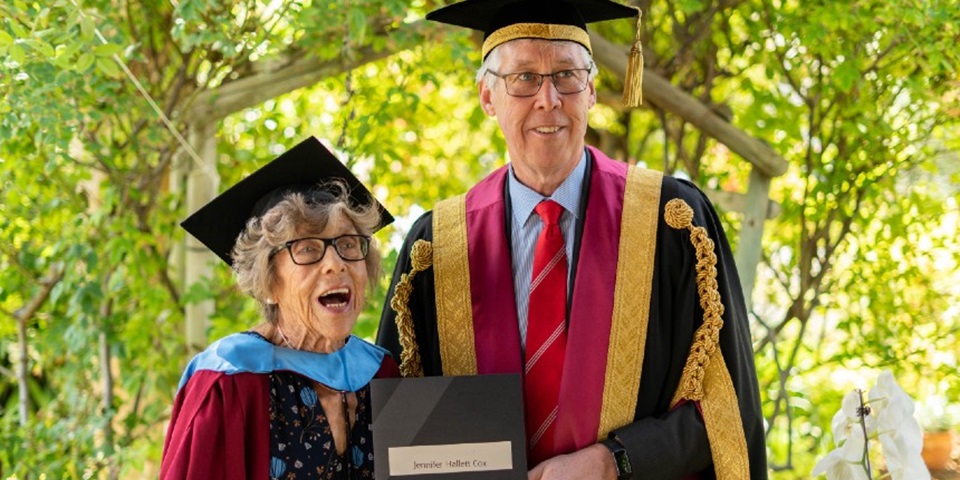
MULTIPOLYGON (((586 177, 590 178, 589 167, 586 177)), ((589 201, 586 187, 589 183, 584 182, 584 204, 589 201)), ((690 233, 670 228, 663 220, 664 205, 672 198, 681 198, 693 208, 693 223, 704 227, 715 243, 717 282, 725 307, 720 348, 737 392, 747 441, 750 477, 765 479, 767 466, 763 417, 740 280, 716 211, 706 196, 685 180, 667 176, 663 178, 646 353, 635 421, 613 433, 624 444, 633 470, 640 478, 682 479, 698 473, 699 478, 715 478, 710 445, 697 405, 686 403, 670 410, 691 340, 703 321, 703 309, 696 289, 696 252, 690 242, 690 233)), ((585 212, 585 205, 581 210, 581 213, 585 212)), ((506 217, 509 219, 509 215, 506 217)), ((579 218, 582 222, 584 215, 579 218)), ((400 276, 412 269, 410 250, 413 243, 419 239, 433 240, 432 220, 432 212, 425 213, 407 235, 394 269, 388 300, 393 298, 400 276)), ((579 226, 577 231, 579 239, 579 226)), ((509 235, 509 224, 504 225, 504 235, 509 235)), ((579 240, 577 243, 576 251, 589 248, 579 245, 579 240)), ((574 257, 576 259, 576 253, 574 257)), ((576 282, 576 278, 573 281, 576 282)), ((389 303, 386 303, 381 316, 377 344, 389 350, 394 358, 400 358, 396 312, 389 303)), ((424 375, 442 375, 432 267, 415 276, 409 307, 424 375)), ((577 361, 590 359, 578 358, 577 361)))

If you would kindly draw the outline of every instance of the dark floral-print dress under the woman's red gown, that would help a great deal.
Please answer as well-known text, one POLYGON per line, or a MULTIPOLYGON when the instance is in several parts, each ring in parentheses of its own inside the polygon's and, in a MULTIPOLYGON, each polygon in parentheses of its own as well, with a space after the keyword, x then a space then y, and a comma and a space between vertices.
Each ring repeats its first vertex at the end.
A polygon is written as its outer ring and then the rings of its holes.
POLYGON ((357 392, 347 450, 340 455, 313 385, 293 372, 270 374, 270 478, 372 479, 370 386, 357 392))

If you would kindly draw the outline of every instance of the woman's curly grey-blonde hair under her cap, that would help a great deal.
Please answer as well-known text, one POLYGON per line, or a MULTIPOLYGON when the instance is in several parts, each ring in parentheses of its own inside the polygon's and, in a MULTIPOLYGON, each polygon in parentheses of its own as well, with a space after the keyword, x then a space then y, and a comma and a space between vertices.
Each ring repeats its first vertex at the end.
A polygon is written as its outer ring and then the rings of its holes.
MULTIPOLYGON (((303 235, 317 234, 339 218, 346 217, 360 235, 371 235, 380 223, 380 211, 374 202, 351 205, 349 188, 342 180, 320 184, 316 191, 319 193, 312 198, 302 192, 287 193, 263 215, 248 220, 230 253, 237 287, 260 303, 270 323, 276 324, 279 318, 277 304, 267 302, 278 280, 272 261, 278 248, 303 235)), ((380 274, 380 261, 380 250, 372 240, 364 259, 371 290, 380 274)))

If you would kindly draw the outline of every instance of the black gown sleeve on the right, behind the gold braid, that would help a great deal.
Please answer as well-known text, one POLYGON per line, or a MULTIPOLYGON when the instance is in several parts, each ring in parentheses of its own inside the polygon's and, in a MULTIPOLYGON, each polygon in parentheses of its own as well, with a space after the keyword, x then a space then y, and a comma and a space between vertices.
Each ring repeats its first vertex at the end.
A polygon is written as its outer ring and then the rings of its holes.
POLYGON ((766 479, 763 417, 740 278, 716 211, 703 192, 687 181, 664 178, 651 320, 636 420, 613 434, 626 448, 634 471, 648 473, 650 478, 691 478, 686 475, 693 472, 701 472, 701 478, 713 478, 711 445, 698 405, 688 402, 670 409, 704 313, 690 234, 663 222, 663 205, 672 198, 680 198, 693 208, 694 225, 706 229, 714 242, 718 291, 724 306, 720 350, 740 407, 750 478, 766 479))

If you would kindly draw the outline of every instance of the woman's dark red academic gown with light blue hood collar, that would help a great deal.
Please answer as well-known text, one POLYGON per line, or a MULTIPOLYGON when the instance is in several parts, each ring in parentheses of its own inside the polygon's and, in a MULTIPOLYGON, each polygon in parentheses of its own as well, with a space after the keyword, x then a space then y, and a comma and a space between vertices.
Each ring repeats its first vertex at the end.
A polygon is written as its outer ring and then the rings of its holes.
POLYGON ((349 351, 340 355, 322 355, 235 334, 198 354, 184 372, 174 402, 161 480, 270 478, 272 371, 294 371, 345 391, 359 390, 372 378, 399 376, 396 362, 382 349, 356 337, 347 345, 349 351), (315 368, 314 361, 329 365, 315 368), (350 376, 354 369, 358 371, 350 376))

